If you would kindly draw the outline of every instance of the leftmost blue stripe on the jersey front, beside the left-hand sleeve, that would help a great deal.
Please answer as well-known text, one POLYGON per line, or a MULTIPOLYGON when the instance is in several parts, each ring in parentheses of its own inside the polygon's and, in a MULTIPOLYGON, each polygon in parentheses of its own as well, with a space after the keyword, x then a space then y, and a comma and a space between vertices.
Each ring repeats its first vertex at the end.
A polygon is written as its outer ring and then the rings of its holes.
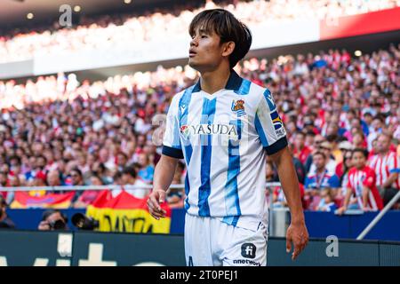
MULTIPOLYGON (((188 106, 190 104, 190 99, 192 98, 192 91, 195 88, 195 86, 192 86, 188 89, 186 89, 180 97, 180 103, 178 106, 178 114, 179 114, 179 126, 181 127, 182 125, 186 125, 188 123, 188 106)), ((185 148, 185 160, 187 164, 187 168, 190 162, 190 159, 192 158, 192 146, 189 141, 185 141, 184 143, 184 148, 185 148)), ((188 193, 190 192, 190 184, 188 181, 188 170, 186 171, 186 178, 185 178, 185 193, 186 193, 186 200, 185 200, 185 209, 188 210, 190 208, 190 205, 188 203, 188 193)))

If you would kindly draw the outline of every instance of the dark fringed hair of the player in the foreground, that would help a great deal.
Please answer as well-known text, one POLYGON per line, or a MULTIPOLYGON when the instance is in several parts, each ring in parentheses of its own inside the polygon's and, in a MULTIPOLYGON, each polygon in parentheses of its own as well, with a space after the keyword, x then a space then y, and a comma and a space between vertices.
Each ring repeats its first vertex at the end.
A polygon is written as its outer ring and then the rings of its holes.
POLYGON ((243 59, 252 45, 252 32, 237 20, 236 17, 224 9, 212 9, 199 12, 190 23, 188 32, 190 36, 196 34, 197 28, 205 32, 214 32, 220 36, 220 43, 234 42, 235 49, 229 55, 229 67, 232 69, 236 63, 243 59))

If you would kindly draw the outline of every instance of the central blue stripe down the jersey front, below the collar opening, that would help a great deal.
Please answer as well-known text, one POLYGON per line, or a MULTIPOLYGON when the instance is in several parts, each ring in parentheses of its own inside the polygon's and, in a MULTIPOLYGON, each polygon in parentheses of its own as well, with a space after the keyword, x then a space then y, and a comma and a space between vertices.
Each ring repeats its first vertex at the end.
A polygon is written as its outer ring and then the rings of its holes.
MULTIPOLYGON (((214 121, 215 106, 217 99, 206 99, 203 100, 203 111, 202 111, 202 124, 212 124, 214 121)), ((211 157, 212 157, 212 135, 201 136, 201 171, 200 179, 202 185, 198 189, 198 215, 201 217, 210 216, 210 206, 208 204, 208 197, 211 193, 211 157)))

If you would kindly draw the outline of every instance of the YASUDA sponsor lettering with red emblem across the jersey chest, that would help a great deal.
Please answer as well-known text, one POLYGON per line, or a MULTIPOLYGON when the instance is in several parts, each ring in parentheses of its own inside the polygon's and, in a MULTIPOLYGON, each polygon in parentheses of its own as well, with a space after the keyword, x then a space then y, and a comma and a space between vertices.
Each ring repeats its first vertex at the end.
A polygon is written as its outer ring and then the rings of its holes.
POLYGON ((229 138, 237 138, 237 129, 235 124, 197 124, 197 125, 182 125, 180 133, 188 139, 191 135, 226 135, 229 138))

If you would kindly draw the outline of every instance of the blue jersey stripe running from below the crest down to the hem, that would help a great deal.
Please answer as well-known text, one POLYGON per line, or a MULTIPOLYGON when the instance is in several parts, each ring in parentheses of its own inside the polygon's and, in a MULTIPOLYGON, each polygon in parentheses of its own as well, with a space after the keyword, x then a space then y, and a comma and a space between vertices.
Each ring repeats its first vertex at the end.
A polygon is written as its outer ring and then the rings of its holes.
MULTIPOLYGON (((236 125, 238 138, 242 138, 242 121, 231 121, 230 124, 236 125)), ((239 205, 239 193, 237 189, 237 176, 240 173, 240 154, 238 141, 228 142, 228 178, 225 185, 225 207, 227 218, 223 222, 228 225, 236 225, 238 217, 242 214, 239 205)))

